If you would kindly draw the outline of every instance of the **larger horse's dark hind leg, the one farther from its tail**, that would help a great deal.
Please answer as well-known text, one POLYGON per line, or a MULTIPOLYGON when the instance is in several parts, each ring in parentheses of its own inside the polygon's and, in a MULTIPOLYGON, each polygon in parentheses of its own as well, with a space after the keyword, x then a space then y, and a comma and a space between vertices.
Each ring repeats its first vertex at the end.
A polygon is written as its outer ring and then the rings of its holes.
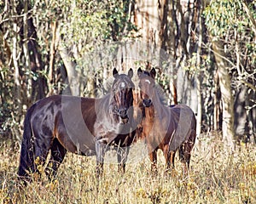
POLYGON ((50 159, 47 167, 45 168, 45 173, 49 179, 55 178, 57 169, 60 167, 61 162, 67 150, 61 145, 58 139, 54 139, 50 148, 50 159))

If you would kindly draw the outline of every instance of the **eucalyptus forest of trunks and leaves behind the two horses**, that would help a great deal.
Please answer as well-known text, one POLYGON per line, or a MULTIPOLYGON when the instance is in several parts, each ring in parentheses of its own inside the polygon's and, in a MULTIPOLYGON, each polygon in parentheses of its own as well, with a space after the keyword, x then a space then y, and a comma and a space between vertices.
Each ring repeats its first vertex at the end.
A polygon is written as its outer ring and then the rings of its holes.
POLYGON ((231 148, 235 139, 255 143, 255 17, 256 1, 5 0, 1 137, 20 141, 38 99, 97 97, 113 67, 155 66, 169 103, 195 111, 198 134, 221 131, 231 148), (142 52, 150 57, 134 57, 142 52))

